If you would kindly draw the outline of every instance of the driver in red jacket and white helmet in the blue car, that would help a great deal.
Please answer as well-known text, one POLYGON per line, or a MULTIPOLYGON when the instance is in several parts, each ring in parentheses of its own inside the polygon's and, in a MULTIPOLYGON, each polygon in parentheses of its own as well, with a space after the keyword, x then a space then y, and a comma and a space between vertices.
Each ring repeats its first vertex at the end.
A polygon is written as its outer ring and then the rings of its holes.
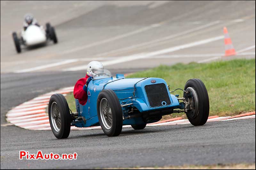
POLYGON ((95 75, 95 71, 102 70, 103 65, 98 61, 92 61, 87 65, 85 78, 80 78, 74 87, 74 97, 78 99, 81 105, 85 105, 87 102, 87 86, 95 75))

